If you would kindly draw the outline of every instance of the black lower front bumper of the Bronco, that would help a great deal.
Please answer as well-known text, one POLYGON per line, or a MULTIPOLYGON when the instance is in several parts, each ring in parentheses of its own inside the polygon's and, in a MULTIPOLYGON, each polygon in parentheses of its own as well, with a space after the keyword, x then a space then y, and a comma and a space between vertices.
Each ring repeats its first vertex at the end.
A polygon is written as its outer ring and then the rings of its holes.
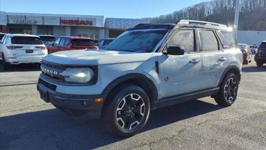
POLYGON ((69 115, 87 115, 88 118, 97 119, 101 116, 101 109, 107 94, 99 95, 72 95, 56 92, 56 85, 52 85, 39 79, 37 90, 41 99, 46 103, 52 103, 59 110, 69 115), (95 102, 96 98, 103 98, 100 103, 95 102))

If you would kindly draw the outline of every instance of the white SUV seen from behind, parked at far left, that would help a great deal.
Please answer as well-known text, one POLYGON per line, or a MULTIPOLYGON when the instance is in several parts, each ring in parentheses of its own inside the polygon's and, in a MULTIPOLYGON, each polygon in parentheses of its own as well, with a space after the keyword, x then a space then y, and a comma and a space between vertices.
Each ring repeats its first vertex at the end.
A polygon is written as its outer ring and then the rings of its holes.
POLYGON ((0 42, 0 57, 4 69, 10 65, 42 62, 47 48, 38 36, 6 34, 0 42))

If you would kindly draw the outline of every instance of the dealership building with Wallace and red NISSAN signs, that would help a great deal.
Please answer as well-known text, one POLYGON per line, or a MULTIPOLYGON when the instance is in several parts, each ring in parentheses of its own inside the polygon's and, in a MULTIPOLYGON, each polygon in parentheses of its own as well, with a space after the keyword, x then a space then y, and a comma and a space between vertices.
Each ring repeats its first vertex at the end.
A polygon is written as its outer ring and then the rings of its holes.
POLYGON ((10 34, 115 38, 140 23, 149 23, 149 19, 0 11, 0 32, 10 34))

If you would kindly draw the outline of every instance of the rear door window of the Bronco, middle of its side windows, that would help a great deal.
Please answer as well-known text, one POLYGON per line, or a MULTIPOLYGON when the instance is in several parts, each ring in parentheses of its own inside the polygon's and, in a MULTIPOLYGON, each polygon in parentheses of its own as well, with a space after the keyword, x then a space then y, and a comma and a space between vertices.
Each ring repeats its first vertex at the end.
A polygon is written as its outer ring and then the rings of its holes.
POLYGON ((217 51, 219 50, 218 41, 213 31, 199 30, 201 45, 203 51, 217 51))

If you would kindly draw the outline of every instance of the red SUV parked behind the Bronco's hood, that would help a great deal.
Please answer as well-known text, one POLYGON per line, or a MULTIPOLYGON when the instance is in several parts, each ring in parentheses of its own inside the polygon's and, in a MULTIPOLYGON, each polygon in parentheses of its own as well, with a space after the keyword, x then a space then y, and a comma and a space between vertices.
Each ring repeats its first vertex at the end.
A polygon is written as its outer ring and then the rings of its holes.
POLYGON ((87 37, 59 37, 52 46, 49 47, 48 53, 63 50, 76 49, 99 49, 93 39, 87 37))

